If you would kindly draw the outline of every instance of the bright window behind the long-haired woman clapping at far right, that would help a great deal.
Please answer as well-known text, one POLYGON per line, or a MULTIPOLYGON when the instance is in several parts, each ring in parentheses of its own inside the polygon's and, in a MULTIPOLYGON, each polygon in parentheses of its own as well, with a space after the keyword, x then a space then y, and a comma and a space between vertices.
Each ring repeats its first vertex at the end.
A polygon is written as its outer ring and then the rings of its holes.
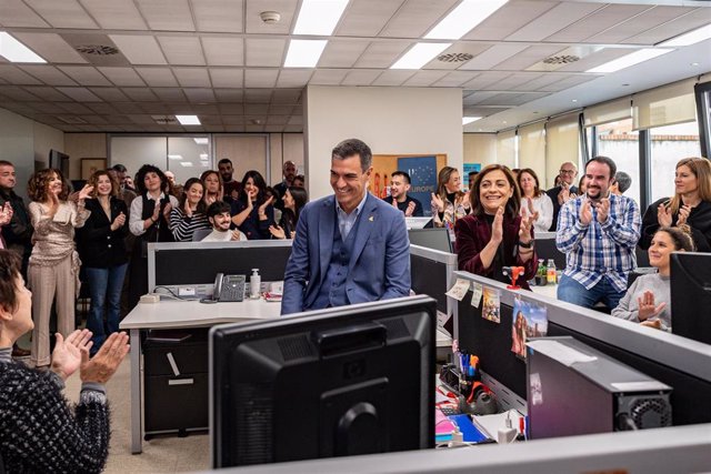
POLYGON ((682 158, 701 157, 695 121, 649 129, 651 140, 652 190, 650 202, 674 193, 674 172, 682 158))

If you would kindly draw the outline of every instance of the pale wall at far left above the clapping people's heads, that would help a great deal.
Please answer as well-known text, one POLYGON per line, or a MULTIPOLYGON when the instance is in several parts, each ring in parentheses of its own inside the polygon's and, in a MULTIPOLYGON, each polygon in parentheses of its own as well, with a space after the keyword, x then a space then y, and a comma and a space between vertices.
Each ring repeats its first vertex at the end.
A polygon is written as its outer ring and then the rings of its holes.
POLYGON ((27 198, 27 182, 34 172, 34 161, 49 163, 49 150, 64 151, 64 133, 9 110, 0 109, 0 160, 14 164, 16 192, 27 198))

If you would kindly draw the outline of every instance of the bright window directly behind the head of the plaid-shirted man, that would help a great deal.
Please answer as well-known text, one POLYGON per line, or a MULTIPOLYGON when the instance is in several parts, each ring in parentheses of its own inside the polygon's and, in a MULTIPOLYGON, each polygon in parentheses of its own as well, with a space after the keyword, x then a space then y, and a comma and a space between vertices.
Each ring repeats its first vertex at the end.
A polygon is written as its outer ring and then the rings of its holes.
POLYGON ((632 178, 632 185, 624 193, 640 202, 640 135, 632 130, 632 119, 618 120, 597 127, 598 154, 614 160, 618 171, 632 178))

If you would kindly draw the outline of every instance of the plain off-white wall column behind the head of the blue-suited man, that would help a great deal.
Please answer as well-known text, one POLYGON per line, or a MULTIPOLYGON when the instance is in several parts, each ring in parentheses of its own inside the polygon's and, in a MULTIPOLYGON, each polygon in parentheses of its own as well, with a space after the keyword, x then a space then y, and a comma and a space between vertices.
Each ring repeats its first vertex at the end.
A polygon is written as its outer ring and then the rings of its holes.
POLYGON ((304 100, 304 160, 309 198, 332 193, 331 150, 358 138, 373 154, 445 153, 462 170, 459 89, 309 85, 304 100))

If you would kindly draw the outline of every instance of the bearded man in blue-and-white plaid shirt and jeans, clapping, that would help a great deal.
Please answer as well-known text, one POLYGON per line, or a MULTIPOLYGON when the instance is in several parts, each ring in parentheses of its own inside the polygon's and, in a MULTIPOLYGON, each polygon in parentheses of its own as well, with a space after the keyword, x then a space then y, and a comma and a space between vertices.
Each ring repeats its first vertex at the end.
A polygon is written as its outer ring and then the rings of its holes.
POLYGON ((642 221, 633 200, 610 193, 615 173, 614 161, 593 158, 585 165, 587 193, 560 210, 555 245, 567 255, 561 301, 584 307, 603 302, 612 310, 627 291, 642 221))

